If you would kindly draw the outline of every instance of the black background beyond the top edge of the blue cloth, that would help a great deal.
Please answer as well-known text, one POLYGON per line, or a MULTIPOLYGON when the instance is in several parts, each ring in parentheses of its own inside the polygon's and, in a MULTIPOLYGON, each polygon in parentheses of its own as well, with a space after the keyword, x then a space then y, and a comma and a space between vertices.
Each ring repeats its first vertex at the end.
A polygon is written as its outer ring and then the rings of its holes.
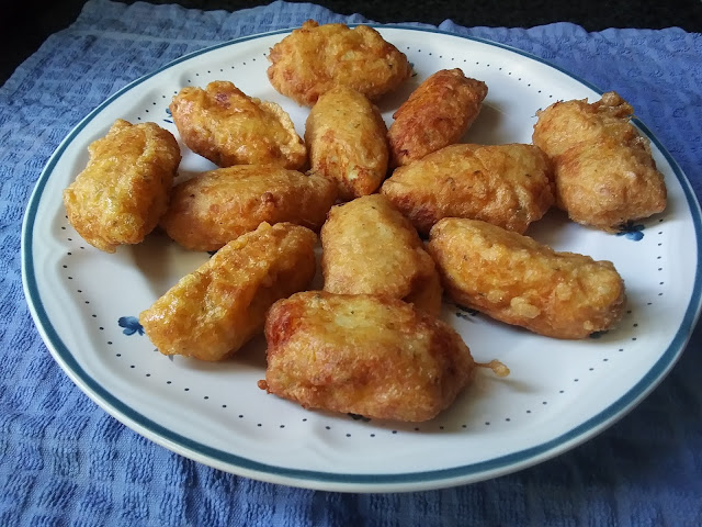
MULTIPOLYGON (((47 2, 0 0, 0 85, 32 55, 48 35, 70 25, 86 0, 47 2)), ((134 3, 126 0, 124 3, 134 3)), ((150 0, 195 9, 237 9, 267 4, 246 0, 150 0)), ((590 2, 551 0, 318 0, 314 3, 342 14, 361 13, 377 22, 427 22, 445 19, 465 26, 531 27, 551 22, 574 22, 588 31, 607 27, 679 26, 702 32, 702 0, 621 0, 590 2)), ((702 57, 701 57, 702 59, 702 57)))

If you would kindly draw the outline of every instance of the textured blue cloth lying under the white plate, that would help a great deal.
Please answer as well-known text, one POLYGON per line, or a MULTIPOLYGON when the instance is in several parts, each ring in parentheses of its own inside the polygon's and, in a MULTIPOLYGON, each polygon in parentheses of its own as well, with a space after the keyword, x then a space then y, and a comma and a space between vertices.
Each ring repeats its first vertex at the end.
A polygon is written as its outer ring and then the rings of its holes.
MULTIPOLYGON (((81 117, 127 82, 229 38, 365 22, 308 3, 202 12, 88 2, 0 89, 0 525, 702 525, 702 334, 631 414, 589 442, 496 480, 433 492, 340 494, 224 473, 157 446, 100 410, 54 362, 22 293, 20 232, 42 167, 81 117)), ((398 21, 401 22, 401 21, 398 21)), ((441 30, 509 44, 616 88, 702 195, 702 35, 441 30)))

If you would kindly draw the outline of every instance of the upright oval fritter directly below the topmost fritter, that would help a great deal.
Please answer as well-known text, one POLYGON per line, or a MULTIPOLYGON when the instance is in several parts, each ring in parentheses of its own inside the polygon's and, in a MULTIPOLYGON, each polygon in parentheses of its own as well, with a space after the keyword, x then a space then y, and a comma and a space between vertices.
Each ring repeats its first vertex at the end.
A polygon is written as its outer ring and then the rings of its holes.
POLYGON ((339 186, 348 201, 377 190, 387 173, 387 128, 378 109, 353 88, 324 93, 307 116, 313 170, 339 186))

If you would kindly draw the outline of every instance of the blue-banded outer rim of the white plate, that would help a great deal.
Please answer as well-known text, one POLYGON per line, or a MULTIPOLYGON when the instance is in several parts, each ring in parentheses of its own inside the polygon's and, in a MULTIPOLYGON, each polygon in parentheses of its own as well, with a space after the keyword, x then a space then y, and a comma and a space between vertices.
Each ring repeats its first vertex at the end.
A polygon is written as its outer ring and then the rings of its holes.
MULTIPOLYGON (((585 87, 600 94, 602 93, 602 90, 597 88, 595 85, 585 79, 581 79, 580 77, 546 59, 543 59, 529 52, 524 52, 513 46, 494 42, 487 38, 452 33, 434 27, 411 26, 405 24, 354 23, 347 25, 369 25, 374 29, 381 30, 390 29, 410 32, 437 33, 444 36, 468 40, 489 46, 499 47, 546 65, 580 82, 585 87)), ((98 116, 98 114, 100 114, 106 105, 111 104, 112 101, 121 97, 123 93, 134 89, 147 79, 199 55, 203 55, 222 47, 236 45, 251 40, 263 38, 275 34, 290 33, 294 29, 295 27, 290 27, 269 31, 264 33, 257 33, 253 35, 246 35, 223 43, 214 44, 212 46, 207 46, 178 57, 161 66, 160 68, 155 69, 154 71, 150 71, 133 80, 132 82, 128 82, 115 93, 110 96, 107 99, 102 101, 88 115, 86 115, 86 117, 79 121, 78 124, 76 124, 69 132, 69 134, 61 141, 61 143, 59 143, 56 150, 49 157, 46 166, 43 168, 34 186, 23 218, 21 236, 22 284, 24 296, 27 302, 27 306, 30 307, 30 312, 32 314, 32 318, 34 319, 35 326, 37 327, 37 330, 42 336, 45 346, 47 347, 54 359, 61 367, 64 372, 69 377, 69 379, 112 417, 116 418, 128 428, 132 428, 136 433, 147 437, 154 442, 183 457, 193 459, 195 461, 226 472, 245 475, 260 481, 282 483, 298 487, 341 492, 407 492, 441 489, 477 482, 506 473, 516 472, 518 470, 523 470, 539 462, 554 458, 593 438, 599 433, 610 427, 616 421, 631 412, 634 407, 636 407, 638 403, 641 403, 672 369, 677 360, 682 355, 682 351, 684 350, 686 345, 692 335, 697 321, 700 317, 700 312, 702 310, 702 268, 699 258, 694 271, 694 283, 692 287, 691 296, 686 307, 680 326, 675 333, 675 336, 665 352, 661 354, 659 359, 648 369, 646 374, 636 384, 634 384, 622 396, 609 404, 598 414, 573 427, 568 431, 561 434, 555 438, 552 438, 551 440, 506 456, 479 461, 477 463, 462 464, 458 467, 451 467, 446 469, 427 470, 419 472, 372 474, 325 472, 318 470, 293 469, 262 463, 242 456, 238 456, 236 453, 230 453, 217 448, 210 447, 199 441, 194 441, 185 436, 166 428, 162 425, 159 425, 158 423, 151 421, 136 410, 132 408, 127 404, 123 403, 116 395, 113 395, 111 392, 104 389, 98 381, 95 381, 82 369, 82 367, 72 356, 70 349, 68 349, 68 347, 58 336, 58 333, 54 328, 46 313, 34 271, 32 246, 36 211, 38 208, 38 203, 43 197, 44 188, 46 187, 46 182, 48 181, 54 167, 61 158, 66 148, 73 142, 76 136, 88 125, 88 123, 90 123, 95 116, 98 116)), ((646 137, 648 137, 652 143, 655 144, 655 146, 658 148, 658 150, 665 157, 666 161, 671 167, 675 177, 682 188, 686 201, 688 203, 688 206, 690 208, 690 214, 692 216, 692 226, 694 228, 694 238, 697 243, 695 250, 699 256, 699 249, 702 242, 702 214, 700 210, 700 203, 692 189, 692 186, 678 162, 672 158, 669 152, 663 146, 663 144, 650 132, 650 130, 636 117, 634 117, 632 121, 639 127, 642 133, 646 137)))

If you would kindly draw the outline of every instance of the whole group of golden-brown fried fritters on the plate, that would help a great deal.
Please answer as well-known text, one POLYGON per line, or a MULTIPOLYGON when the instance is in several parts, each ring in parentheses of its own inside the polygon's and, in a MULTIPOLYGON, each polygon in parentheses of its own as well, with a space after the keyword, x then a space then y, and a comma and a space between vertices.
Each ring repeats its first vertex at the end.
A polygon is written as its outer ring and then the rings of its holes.
POLYGON ((102 250, 157 224, 188 249, 217 250, 140 314, 162 354, 222 360, 264 332, 260 388, 416 422, 448 407, 476 367, 508 371, 476 363, 438 318, 444 293, 556 338, 619 322, 624 283, 611 262, 523 235, 553 204, 604 231, 665 208, 663 176, 616 93, 537 112, 533 145, 461 144, 485 82, 437 71, 387 128, 373 101, 411 66, 371 27, 308 21, 269 59, 272 86, 312 106, 304 141, 280 105, 231 82, 183 88, 170 104, 180 137, 220 168, 173 187, 174 137, 120 120, 64 193, 70 223, 102 250), (324 290, 305 292, 315 232, 324 290))

